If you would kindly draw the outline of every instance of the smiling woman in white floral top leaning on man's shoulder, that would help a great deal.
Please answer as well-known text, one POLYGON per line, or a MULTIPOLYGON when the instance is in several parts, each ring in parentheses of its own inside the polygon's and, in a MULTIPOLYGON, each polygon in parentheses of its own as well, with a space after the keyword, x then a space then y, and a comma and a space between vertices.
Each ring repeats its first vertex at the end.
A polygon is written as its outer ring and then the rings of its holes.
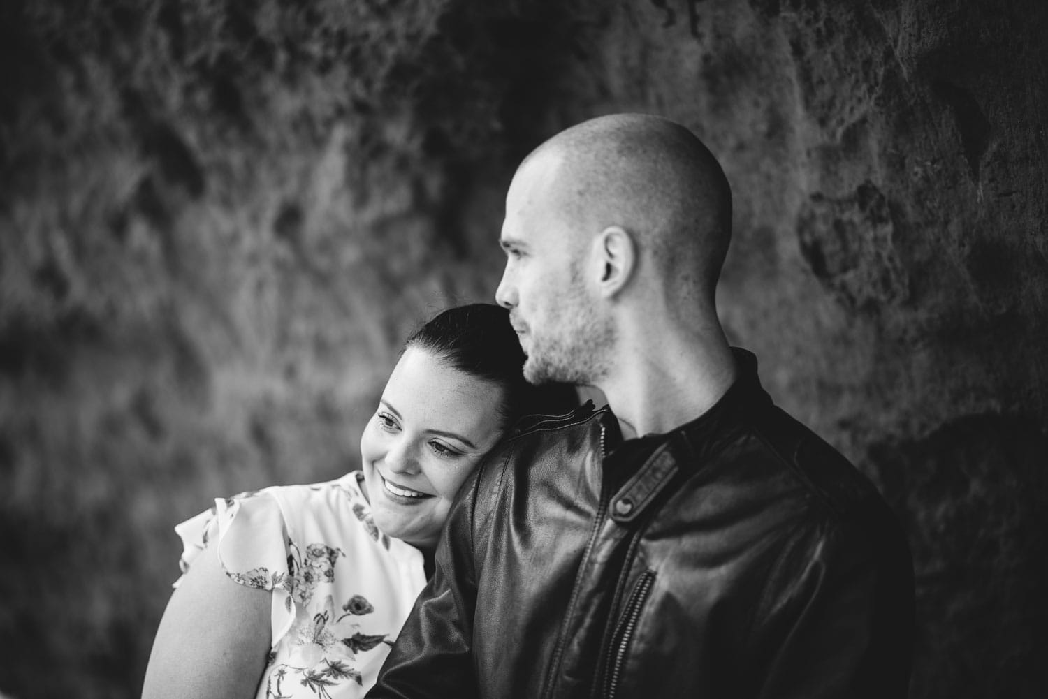
POLYGON ((363 471, 219 499, 175 527, 183 575, 144 699, 363 697, 425 585, 459 488, 569 387, 524 380, 508 312, 443 311, 413 333, 361 438, 363 471))

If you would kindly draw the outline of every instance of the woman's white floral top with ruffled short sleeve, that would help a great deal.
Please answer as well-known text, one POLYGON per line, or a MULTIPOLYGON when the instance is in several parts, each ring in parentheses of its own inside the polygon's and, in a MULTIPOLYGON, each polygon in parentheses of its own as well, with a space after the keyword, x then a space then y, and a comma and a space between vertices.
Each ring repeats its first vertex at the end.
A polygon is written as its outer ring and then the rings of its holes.
POLYGON ((217 541, 233 581, 272 591, 257 699, 363 697, 425 585, 422 554, 375 527, 358 478, 243 493, 175 527, 183 573, 217 541))

